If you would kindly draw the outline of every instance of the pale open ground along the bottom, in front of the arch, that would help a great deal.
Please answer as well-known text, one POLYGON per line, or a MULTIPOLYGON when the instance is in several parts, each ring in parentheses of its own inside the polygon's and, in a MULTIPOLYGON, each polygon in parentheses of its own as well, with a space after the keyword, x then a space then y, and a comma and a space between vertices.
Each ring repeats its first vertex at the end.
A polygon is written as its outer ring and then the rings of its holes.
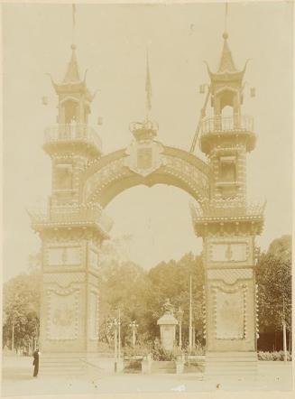
MULTIPOLYGON (((106 360, 107 361, 107 360, 106 360)), ((111 360, 108 359, 110 362, 111 360)), ((256 381, 243 379, 205 381, 201 373, 194 374, 114 374, 90 367, 88 376, 32 377, 32 357, 4 357, 2 396, 32 394, 116 394, 158 392, 200 392, 219 389, 291 390, 291 364, 259 362, 256 381)))

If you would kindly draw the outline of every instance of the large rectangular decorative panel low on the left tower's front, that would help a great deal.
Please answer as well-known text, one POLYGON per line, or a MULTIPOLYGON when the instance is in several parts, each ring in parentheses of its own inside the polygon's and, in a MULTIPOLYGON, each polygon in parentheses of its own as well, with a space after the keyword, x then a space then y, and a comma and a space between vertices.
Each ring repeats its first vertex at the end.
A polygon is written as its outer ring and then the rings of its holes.
POLYGON ((48 339, 78 338, 78 289, 48 290, 48 339))

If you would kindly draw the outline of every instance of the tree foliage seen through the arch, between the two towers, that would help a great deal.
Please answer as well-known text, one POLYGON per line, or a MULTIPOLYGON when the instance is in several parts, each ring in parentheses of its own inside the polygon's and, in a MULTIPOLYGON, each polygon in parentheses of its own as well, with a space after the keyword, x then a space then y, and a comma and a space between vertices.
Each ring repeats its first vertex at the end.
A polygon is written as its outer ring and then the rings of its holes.
POLYGON ((110 342, 113 333, 110 323, 121 315, 123 343, 130 343, 130 323, 138 324, 137 338, 153 341, 159 336, 157 320, 167 298, 183 315, 184 336, 189 325, 189 275, 192 276, 193 316, 199 339, 202 338, 202 300, 204 271, 201 257, 191 253, 179 261, 161 262, 150 271, 127 261, 118 254, 118 246, 111 242, 103 248, 101 256, 100 286, 100 339, 110 342), (114 256, 112 255, 114 254, 114 256))

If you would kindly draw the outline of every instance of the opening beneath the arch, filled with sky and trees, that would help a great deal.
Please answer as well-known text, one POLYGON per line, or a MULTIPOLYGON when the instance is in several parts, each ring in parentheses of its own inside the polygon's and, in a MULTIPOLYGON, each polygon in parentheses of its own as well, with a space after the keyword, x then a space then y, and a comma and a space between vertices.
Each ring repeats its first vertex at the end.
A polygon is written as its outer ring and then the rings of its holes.
MULTIPOLYGON (((106 316, 120 307, 124 318, 121 330, 124 346, 128 346, 130 331, 126 326, 131 320, 138 324, 137 338, 140 341, 153 343, 154 339, 160 339, 157 320, 162 315, 163 303, 170 298, 175 317, 179 317, 180 307, 184 312, 181 339, 183 348, 188 347, 190 275, 192 342, 204 345, 202 240, 193 230, 190 200, 191 196, 183 190, 157 184, 152 188, 136 186, 124 190, 106 206, 107 215, 115 222, 111 239, 117 244, 119 237, 128 238, 124 241, 122 264, 115 260, 105 265, 109 272, 102 272, 108 275, 111 283, 101 292, 101 331, 106 329, 106 316), (124 292, 128 292, 127 298, 124 292)), ((177 344, 180 329, 176 330, 177 344)))

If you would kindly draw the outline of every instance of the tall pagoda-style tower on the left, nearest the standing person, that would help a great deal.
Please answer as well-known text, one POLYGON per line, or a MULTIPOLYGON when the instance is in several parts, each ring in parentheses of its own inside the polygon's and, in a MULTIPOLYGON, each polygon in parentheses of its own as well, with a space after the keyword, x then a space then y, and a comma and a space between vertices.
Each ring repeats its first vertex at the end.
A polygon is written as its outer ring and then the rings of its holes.
POLYGON ((31 212, 42 243, 41 372, 73 374, 97 350, 98 247, 109 221, 99 204, 79 203, 81 173, 101 156, 101 142, 88 115, 93 95, 80 79, 76 46, 66 75, 52 79, 58 96, 57 124, 45 131, 52 190, 47 212, 31 212))

